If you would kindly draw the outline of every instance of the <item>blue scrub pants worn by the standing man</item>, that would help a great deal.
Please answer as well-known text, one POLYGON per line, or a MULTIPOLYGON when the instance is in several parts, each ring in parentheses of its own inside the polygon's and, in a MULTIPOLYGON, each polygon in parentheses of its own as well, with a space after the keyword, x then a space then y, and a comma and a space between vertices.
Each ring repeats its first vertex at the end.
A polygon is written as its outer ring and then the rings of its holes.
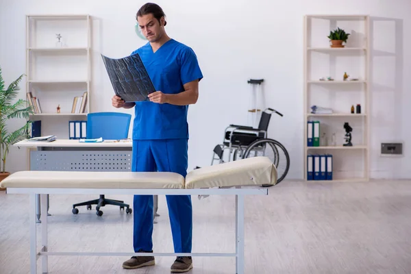
MULTIPOLYGON (((170 171, 186 177, 188 140, 133 140, 132 171, 170 171)), ((166 195, 174 252, 190 253, 190 195, 166 195)), ((153 250, 153 195, 134 195, 134 252, 153 250)))

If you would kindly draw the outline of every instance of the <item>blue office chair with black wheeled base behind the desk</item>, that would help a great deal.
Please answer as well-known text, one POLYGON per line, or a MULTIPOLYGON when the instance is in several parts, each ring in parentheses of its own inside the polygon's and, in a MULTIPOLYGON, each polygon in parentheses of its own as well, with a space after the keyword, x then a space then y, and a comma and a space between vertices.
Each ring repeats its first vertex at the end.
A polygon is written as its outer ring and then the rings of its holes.
MULTIPOLYGON (((87 115, 87 138, 103 138, 103 140, 121 140, 128 137, 129 125, 132 115, 121 112, 94 112, 87 115)), ((103 215, 100 210, 102 206, 112 205, 120 206, 127 214, 132 213, 132 208, 124 203, 124 201, 105 199, 104 195, 100 195, 99 199, 85 201, 83 203, 76 203, 73 205, 73 214, 77 214, 79 210, 77 206, 87 206, 91 210, 91 205, 97 205, 97 216, 103 215)))

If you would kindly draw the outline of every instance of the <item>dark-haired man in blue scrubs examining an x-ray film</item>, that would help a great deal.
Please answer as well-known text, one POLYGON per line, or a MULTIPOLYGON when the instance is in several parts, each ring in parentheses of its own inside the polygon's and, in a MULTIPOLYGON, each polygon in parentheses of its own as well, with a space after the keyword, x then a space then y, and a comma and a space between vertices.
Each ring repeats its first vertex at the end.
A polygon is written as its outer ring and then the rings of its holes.
MULTIPOLYGON (((196 103, 203 78, 194 51, 167 36, 160 6, 146 3, 136 14, 147 40, 138 53, 155 89, 149 101, 125 103, 114 96, 116 108, 135 108, 132 171, 171 171, 186 177, 188 167, 188 105, 196 103)), ((191 197, 166 196, 174 251, 190 253, 192 247, 191 197)), ((134 251, 153 252, 153 196, 134 195, 134 251)), ((133 256, 125 269, 155 264, 152 256, 133 256)), ((171 272, 192 269, 191 257, 177 257, 171 272)))

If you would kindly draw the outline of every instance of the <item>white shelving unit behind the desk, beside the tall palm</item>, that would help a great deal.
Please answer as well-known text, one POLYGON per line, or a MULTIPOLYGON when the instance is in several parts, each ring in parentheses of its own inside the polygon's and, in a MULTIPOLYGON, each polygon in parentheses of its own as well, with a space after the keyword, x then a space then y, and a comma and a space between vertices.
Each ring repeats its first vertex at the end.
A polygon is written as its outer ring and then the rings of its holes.
POLYGON ((26 16, 27 100, 29 95, 38 99, 40 110, 37 105, 39 111, 30 119, 42 121, 42 135, 68 138, 68 122, 85 120, 90 112, 90 43, 88 14, 26 16), (85 103, 73 113, 75 97, 82 97, 85 103))

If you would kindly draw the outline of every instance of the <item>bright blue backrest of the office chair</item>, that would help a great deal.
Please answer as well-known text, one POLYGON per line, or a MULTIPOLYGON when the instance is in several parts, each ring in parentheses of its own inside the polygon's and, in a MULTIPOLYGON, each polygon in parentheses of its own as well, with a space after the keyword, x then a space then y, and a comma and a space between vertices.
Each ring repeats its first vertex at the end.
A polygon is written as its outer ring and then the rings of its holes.
POLYGON ((121 140, 128 137, 132 115, 121 112, 93 112, 87 114, 87 138, 121 140))

